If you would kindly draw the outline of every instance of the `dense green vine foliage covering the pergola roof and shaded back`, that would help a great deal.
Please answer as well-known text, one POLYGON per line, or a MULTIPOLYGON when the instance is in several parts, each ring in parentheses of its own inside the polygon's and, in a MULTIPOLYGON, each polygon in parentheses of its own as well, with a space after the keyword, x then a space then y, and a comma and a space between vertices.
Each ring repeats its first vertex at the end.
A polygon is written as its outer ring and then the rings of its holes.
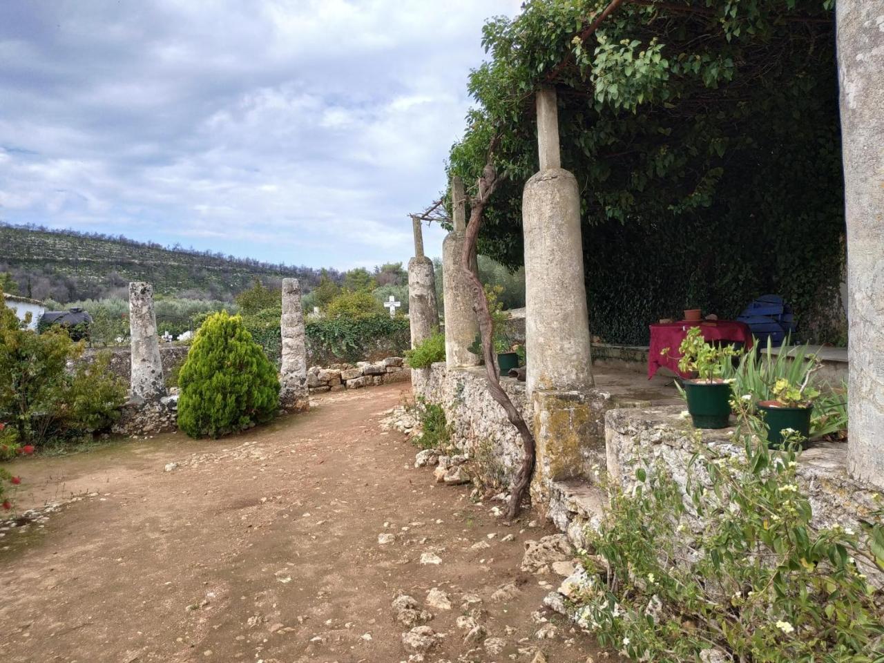
MULTIPOLYGON (((593 332, 647 343, 690 302, 735 316, 781 293, 836 338, 844 254, 832 0, 530 0, 484 27, 449 174, 475 182, 492 136, 506 181, 478 251, 522 264, 522 189, 538 168, 533 95, 558 91, 561 161, 581 196, 593 332), (763 238, 763 239, 761 239, 763 238)), ((808 325, 815 325, 808 329, 808 325)))

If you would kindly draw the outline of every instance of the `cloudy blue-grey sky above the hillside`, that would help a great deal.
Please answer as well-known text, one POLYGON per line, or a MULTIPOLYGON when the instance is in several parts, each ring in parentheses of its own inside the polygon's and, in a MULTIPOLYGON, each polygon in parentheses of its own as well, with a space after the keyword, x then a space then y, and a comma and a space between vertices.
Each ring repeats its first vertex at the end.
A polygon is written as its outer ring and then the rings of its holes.
MULTIPOLYGON (((0 220, 347 269, 412 253, 520 0, 2 0, 0 220)), ((442 232, 425 235, 441 251, 442 232)))

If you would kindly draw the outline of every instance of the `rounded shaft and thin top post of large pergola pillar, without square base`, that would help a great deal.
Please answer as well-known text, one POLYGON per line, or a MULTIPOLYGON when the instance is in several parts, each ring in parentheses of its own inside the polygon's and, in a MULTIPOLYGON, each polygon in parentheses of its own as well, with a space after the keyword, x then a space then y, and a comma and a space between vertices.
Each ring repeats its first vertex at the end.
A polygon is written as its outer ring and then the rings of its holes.
POLYGON ((540 171, 525 185, 525 349, 528 392, 592 385, 577 180, 560 168, 555 91, 537 93, 540 171))

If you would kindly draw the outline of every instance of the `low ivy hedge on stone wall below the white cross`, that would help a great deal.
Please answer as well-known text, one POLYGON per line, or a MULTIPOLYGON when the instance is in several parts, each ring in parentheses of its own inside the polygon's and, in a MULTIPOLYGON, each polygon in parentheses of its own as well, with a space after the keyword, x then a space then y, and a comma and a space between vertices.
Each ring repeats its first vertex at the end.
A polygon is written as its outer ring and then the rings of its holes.
POLYGON ((361 318, 310 320, 305 331, 315 358, 345 362, 366 359, 382 345, 386 352, 404 354, 411 339, 408 318, 390 317, 385 313, 361 318))

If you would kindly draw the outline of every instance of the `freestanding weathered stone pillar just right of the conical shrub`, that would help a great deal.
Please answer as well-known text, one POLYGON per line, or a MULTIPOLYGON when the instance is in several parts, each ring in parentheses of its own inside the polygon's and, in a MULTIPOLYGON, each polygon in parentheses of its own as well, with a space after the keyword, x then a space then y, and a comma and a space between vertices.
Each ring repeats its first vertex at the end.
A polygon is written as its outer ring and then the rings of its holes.
POLYGON ((282 364, 279 370, 279 406, 286 412, 310 407, 307 386, 307 335, 301 310, 301 284, 297 278, 282 279, 282 364))

